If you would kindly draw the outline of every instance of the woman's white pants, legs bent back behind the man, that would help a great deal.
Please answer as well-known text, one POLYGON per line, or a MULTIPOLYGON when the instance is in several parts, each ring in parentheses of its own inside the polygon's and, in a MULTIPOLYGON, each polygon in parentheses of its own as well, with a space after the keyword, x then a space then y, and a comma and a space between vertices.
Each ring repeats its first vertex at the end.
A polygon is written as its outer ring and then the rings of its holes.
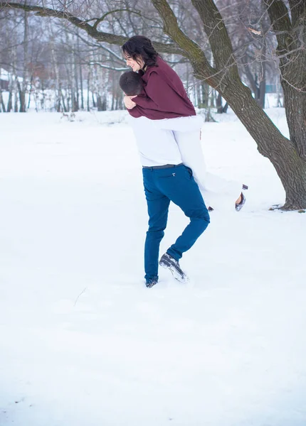
POLYGON ((241 195, 242 184, 206 171, 199 131, 174 131, 174 136, 181 152, 181 159, 184 165, 191 168, 206 207, 215 210, 235 209, 235 202, 241 195))

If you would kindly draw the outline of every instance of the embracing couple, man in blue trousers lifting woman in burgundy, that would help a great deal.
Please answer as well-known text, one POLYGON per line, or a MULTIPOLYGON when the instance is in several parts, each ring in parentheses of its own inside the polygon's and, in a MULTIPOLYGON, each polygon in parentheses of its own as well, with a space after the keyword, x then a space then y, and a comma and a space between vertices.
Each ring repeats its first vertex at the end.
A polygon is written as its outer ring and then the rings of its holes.
MULTIPOLYGON (((200 142, 203 121, 196 116, 179 76, 159 56, 148 38, 142 35, 130 38, 122 46, 122 52, 132 68, 120 77, 120 87, 125 92, 125 107, 130 113, 142 162, 149 214, 144 278, 147 288, 152 288, 158 283, 159 265, 168 268, 177 280, 187 279, 179 260, 209 225, 204 202, 209 194, 209 174, 200 142), (159 260, 159 245, 171 201, 190 222, 159 260)), ((233 207, 236 205, 239 210, 246 200, 241 185, 233 182, 229 186, 233 207)))

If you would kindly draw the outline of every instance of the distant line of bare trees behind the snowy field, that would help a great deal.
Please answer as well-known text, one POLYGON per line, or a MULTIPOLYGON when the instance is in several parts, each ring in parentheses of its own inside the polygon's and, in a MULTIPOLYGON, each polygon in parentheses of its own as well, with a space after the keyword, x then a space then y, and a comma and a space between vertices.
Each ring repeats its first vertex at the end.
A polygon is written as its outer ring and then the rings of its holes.
MULTIPOLYGON (((109 33, 125 37, 136 33, 154 35, 155 40, 167 42, 150 1, 120 1, 120 8, 115 7, 115 1, 96 3, 89 8, 85 1, 73 1, 68 10, 86 17, 100 16, 97 26, 109 33)), ((275 40, 267 35, 268 16, 257 24, 263 13, 262 2, 244 3, 218 2, 233 48, 238 53, 236 60, 241 78, 260 107, 265 107, 267 87, 273 87, 278 93, 281 105, 279 72, 271 55, 275 40)), ((43 4, 51 5, 48 1, 43 4)), ((63 1, 58 4, 63 6, 63 1)), ((184 23, 190 37, 203 46, 213 66, 211 46, 199 31, 202 26, 199 15, 184 0, 176 1, 176 12, 179 22, 184 23)), ((41 19, 22 9, 0 9, 0 21, 0 111, 25 112, 30 104, 37 110, 63 112, 123 108, 117 81, 127 67, 119 45, 107 46, 72 23, 53 16, 41 19)), ((209 84, 194 77, 189 60, 176 53, 164 53, 164 58, 179 73, 196 107, 226 112, 228 103, 209 84)))

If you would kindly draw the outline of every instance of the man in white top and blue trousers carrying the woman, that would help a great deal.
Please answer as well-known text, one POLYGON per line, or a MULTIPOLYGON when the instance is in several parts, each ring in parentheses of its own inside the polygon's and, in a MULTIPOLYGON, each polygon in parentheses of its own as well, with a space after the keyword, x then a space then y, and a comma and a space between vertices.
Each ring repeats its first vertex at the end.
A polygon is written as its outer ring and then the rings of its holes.
MULTIPOLYGON (((130 89, 134 93, 142 91, 142 85, 137 81, 120 77, 120 87, 128 94, 130 89), (136 84, 136 87, 132 87, 136 84)), ((194 130, 194 117, 181 117, 185 120, 184 126, 178 130, 194 130)), ((190 168, 183 165, 181 153, 171 130, 163 129, 167 120, 152 120, 142 116, 130 118, 136 136, 142 173, 144 192, 149 214, 149 229, 144 245, 144 270, 147 288, 152 288, 158 282, 158 266, 168 268, 174 278, 186 280, 184 271, 179 266, 179 259, 183 253, 194 245, 199 236, 209 225, 209 212, 206 209, 203 197, 196 184, 190 168), (178 205, 190 219, 181 236, 169 247, 159 259, 159 245, 167 226, 170 201, 178 205)))

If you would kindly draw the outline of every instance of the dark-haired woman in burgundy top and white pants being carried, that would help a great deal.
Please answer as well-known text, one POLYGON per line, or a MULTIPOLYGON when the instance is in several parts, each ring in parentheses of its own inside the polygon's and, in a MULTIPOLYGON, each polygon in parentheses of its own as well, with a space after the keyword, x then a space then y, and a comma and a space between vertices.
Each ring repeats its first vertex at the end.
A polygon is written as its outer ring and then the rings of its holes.
MULTIPOLYGON (((181 79, 169 65, 159 56, 151 40, 143 35, 134 35, 122 45, 122 52, 127 65, 134 72, 142 75, 144 91, 137 96, 125 96, 124 102, 134 118, 146 116, 148 119, 173 119, 181 116, 194 116, 196 111, 186 94, 181 79)), ((241 192, 241 185, 228 182, 206 173, 206 165, 199 144, 199 133, 186 135, 175 134, 183 163, 194 172, 194 178, 200 190, 204 192, 206 203, 213 200, 213 207, 218 204, 216 193, 224 195, 223 199, 236 200, 236 210, 240 210, 246 202, 241 192), (227 197, 226 197, 227 193, 227 197)), ((231 201, 232 203, 233 201, 231 201)), ((209 202, 211 204, 211 202, 209 202)), ((233 205, 233 204, 231 204, 233 205)))

